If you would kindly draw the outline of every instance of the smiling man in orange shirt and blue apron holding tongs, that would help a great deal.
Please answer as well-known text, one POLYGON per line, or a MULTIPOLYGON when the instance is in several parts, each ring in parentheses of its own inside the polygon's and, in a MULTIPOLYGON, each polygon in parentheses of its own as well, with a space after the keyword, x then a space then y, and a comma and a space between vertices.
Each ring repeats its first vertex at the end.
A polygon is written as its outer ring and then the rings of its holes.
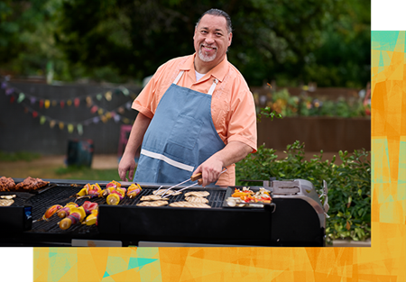
POLYGON ((134 100, 122 180, 133 176, 143 142, 134 182, 179 183, 200 172, 202 186, 235 185, 235 162, 256 151, 256 115, 244 77, 226 59, 232 37, 228 14, 208 10, 195 27, 196 53, 158 68, 134 100))

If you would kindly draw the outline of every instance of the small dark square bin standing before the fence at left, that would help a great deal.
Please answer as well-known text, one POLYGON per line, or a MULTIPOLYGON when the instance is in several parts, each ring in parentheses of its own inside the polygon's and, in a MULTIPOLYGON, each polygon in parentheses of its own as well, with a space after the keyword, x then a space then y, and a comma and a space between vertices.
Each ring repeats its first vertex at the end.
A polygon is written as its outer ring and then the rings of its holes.
POLYGON ((91 140, 69 140, 68 166, 91 167, 93 160, 94 144, 91 140))

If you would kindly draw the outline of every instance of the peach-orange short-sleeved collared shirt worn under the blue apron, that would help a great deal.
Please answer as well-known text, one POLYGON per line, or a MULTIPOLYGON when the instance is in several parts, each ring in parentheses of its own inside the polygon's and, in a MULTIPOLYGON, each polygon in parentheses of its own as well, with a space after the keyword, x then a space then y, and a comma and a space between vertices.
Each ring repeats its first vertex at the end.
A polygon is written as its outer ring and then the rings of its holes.
MULTIPOLYGON (((212 95, 211 116, 221 140, 240 141, 257 150, 256 114, 254 96, 250 92, 244 77, 225 58, 215 68, 196 81, 194 55, 171 59, 153 75, 143 91, 134 100, 133 108, 140 113, 153 117, 161 97, 171 86, 175 78, 184 70, 178 86, 208 93, 217 78, 218 83, 212 95)), ((196 105, 198 106, 198 105, 196 105)), ((181 179, 180 179, 181 180, 181 179)), ((219 186, 235 185, 235 165, 227 167, 217 181, 219 186)))

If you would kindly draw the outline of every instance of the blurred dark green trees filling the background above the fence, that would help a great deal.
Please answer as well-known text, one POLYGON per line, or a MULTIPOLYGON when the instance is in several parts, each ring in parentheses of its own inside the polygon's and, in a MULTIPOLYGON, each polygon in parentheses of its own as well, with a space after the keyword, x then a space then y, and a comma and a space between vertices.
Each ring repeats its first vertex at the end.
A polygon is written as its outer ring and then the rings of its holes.
POLYGON ((248 85, 364 87, 370 80, 367 0, 3 0, 0 74, 141 84, 194 52, 198 17, 225 10, 228 59, 248 85))

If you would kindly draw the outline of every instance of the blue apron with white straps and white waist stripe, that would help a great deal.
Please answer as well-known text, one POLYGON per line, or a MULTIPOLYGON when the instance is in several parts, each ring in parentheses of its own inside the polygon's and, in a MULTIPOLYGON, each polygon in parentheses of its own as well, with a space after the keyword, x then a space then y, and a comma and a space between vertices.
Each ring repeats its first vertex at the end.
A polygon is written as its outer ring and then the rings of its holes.
POLYGON ((216 131, 211 116, 211 96, 171 84, 156 108, 143 137, 134 182, 180 183, 206 159, 226 145, 216 131))

